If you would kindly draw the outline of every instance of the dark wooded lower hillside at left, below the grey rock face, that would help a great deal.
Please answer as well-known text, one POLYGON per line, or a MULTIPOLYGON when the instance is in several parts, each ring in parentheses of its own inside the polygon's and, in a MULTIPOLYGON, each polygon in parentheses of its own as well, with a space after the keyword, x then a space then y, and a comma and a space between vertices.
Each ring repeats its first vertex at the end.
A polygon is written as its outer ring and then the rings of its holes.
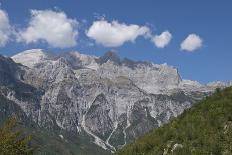
MULTIPOLYGON (((0 127, 10 117, 17 116, 17 130, 32 136, 35 155, 107 155, 108 152, 90 143, 86 134, 76 135, 63 130, 46 130, 31 122, 21 108, 0 92, 0 127)), ((1 153, 0 153, 1 154, 1 153)))

